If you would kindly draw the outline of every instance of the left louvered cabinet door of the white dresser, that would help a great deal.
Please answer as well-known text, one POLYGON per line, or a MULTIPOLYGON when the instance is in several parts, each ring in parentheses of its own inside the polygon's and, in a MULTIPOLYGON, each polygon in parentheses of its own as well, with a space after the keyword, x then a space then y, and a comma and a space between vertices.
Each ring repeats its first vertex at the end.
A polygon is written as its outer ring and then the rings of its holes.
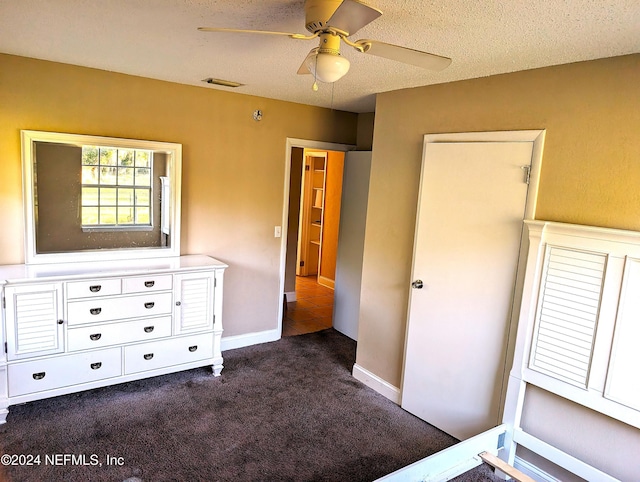
POLYGON ((9 286, 5 299, 9 360, 64 351, 61 284, 9 286))

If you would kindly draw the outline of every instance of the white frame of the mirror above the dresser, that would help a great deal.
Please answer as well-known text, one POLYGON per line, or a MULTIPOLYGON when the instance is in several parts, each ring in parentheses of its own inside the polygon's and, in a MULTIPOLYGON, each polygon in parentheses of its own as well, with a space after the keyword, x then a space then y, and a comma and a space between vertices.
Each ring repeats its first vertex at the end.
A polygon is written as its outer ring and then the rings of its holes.
POLYGON ((182 144, 146 141, 138 139, 124 139, 118 137, 104 137, 84 134, 66 134, 60 132, 45 132, 22 130, 22 192, 24 202, 25 226, 25 263, 47 264, 82 261, 110 261, 126 259, 168 258, 180 256, 180 212, 182 186, 182 144), (51 142, 69 145, 98 145, 132 149, 147 149, 163 151, 168 156, 168 171, 170 178, 170 209, 169 222, 171 230, 171 245, 168 247, 148 248, 116 248, 90 249, 66 251, 61 253, 37 253, 36 251, 36 213, 34 194, 34 145, 36 142, 51 142))

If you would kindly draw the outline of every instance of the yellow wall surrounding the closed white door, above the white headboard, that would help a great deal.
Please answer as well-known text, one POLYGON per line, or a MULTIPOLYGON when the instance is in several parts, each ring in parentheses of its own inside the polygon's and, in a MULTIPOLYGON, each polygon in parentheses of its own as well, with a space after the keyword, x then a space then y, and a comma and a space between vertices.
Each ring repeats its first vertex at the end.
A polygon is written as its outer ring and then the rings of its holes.
MULTIPOLYGON (((378 95, 357 363, 395 387, 401 383, 423 136, 519 129, 546 129, 537 219, 640 230, 640 55, 378 95)), ((540 403, 544 397, 536 398, 537 409, 554 410, 551 399, 540 403)), ((633 467, 618 449, 640 453, 639 432, 610 420, 607 426, 619 435, 606 448, 608 465, 632 480, 633 467)), ((563 446, 566 437, 588 430, 556 426, 553 432, 563 446)), ((587 445, 583 458, 600 463, 598 448, 587 445)))

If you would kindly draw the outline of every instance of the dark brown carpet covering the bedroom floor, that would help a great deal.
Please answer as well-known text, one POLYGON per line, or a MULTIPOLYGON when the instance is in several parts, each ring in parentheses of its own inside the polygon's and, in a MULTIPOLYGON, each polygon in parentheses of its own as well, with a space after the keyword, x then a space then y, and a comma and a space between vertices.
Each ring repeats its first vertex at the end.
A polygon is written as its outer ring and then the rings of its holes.
MULTIPOLYGON (((329 329, 225 352, 218 378, 202 368, 13 406, 0 449, 32 465, 0 470, 12 482, 368 482, 456 442, 355 380, 355 347, 329 329)), ((497 480, 487 467, 457 480, 497 480)))

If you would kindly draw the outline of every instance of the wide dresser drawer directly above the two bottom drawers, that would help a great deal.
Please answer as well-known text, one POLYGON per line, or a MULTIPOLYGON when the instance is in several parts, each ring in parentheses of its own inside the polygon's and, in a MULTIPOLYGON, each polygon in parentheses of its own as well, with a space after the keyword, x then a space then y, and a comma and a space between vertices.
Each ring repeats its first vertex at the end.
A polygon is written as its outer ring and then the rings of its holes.
POLYGON ((69 328, 67 350, 102 348, 171 336, 171 316, 69 328))

